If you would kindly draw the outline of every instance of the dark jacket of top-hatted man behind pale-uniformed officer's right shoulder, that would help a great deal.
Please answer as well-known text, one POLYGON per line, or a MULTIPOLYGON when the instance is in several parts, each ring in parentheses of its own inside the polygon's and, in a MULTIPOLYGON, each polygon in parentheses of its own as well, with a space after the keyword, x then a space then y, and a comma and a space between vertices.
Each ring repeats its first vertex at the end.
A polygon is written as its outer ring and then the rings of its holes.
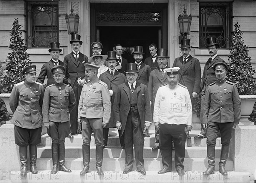
POLYGON ((121 85, 122 83, 127 82, 127 79, 124 74, 115 71, 114 76, 111 76, 111 73, 109 70, 105 71, 104 73, 100 74, 99 80, 103 81, 108 85, 108 89, 113 90, 113 95, 111 96, 111 117, 108 123, 108 128, 116 128, 116 123, 113 121, 113 103, 115 100, 115 95, 118 89, 118 86, 121 85))

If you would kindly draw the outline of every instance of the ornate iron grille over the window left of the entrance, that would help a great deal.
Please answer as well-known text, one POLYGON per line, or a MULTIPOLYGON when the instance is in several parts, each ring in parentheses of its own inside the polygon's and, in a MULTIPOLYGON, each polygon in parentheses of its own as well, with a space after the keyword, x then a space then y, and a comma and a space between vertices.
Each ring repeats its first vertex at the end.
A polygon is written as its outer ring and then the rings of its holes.
POLYGON ((30 47, 49 47, 51 42, 58 42, 58 2, 29 2, 28 14, 30 47))

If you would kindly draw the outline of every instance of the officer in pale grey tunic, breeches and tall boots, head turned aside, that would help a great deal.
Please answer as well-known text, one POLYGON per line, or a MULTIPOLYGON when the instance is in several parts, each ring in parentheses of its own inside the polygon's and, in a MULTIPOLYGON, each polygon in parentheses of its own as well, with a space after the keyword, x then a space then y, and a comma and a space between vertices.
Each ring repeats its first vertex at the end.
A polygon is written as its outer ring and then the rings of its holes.
POLYGON ((92 131, 96 144, 96 169, 103 175, 103 128, 108 125, 111 116, 111 101, 108 86, 98 79, 99 66, 84 64, 87 83, 84 84, 78 106, 78 123, 82 123, 82 154, 84 168, 81 175, 89 171, 90 141, 92 131))

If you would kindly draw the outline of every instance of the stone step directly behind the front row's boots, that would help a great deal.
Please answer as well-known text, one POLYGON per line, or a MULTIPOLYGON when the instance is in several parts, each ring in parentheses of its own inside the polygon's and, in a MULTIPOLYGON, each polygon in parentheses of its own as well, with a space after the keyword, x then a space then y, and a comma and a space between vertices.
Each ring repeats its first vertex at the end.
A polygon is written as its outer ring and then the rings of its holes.
MULTIPOLYGON (((216 167, 218 170, 218 162, 220 158, 215 158, 216 167)), ((79 157, 66 157, 65 165, 71 170, 81 170, 83 167, 83 158, 79 157)), ((174 170, 174 158, 172 160, 172 169, 174 170)), ((90 169, 96 170, 95 157, 90 158, 90 169)), ((206 170, 208 167, 207 158, 185 158, 183 165, 185 170, 206 170)), ((52 158, 51 157, 39 157, 37 159, 36 166, 39 170, 50 170, 52 169, 52 158)), ((162 158, 144 158, 145 170, 160 170, 162 169, 162 158)), ((104 157, 102 169, 105 170, 122 170, 125 167, 125 158, 110 158, 104 157)), ((135 158, 133 169, 136 170, 135 158)), ((227 160, 226 169, 228 171, 233 170, 233 161, 227 160)))

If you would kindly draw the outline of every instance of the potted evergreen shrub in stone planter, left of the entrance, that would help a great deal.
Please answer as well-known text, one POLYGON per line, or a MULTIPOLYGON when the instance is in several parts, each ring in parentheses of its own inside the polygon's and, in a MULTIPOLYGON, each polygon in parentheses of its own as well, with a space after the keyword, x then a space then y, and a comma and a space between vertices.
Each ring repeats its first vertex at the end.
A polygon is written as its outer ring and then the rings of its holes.
POLYGON ((5 63, 5 73, 1 71, 0 75, 0 97, 6 103, 6 108, 10 114, 12 111, 9 107, 9 97, 12 92, 12 88, 16 83, 20 83, 24 80, 22 75, 22 69, 25 66, 31 65, 29 60, 29 54, 26 53, 27 46, 22 38, 22 32, 20 29, 22 26, 19 24, 19 20, 15 19, 10 31, 10 45, 8 48, 12 52, 8 53, 5 63))

